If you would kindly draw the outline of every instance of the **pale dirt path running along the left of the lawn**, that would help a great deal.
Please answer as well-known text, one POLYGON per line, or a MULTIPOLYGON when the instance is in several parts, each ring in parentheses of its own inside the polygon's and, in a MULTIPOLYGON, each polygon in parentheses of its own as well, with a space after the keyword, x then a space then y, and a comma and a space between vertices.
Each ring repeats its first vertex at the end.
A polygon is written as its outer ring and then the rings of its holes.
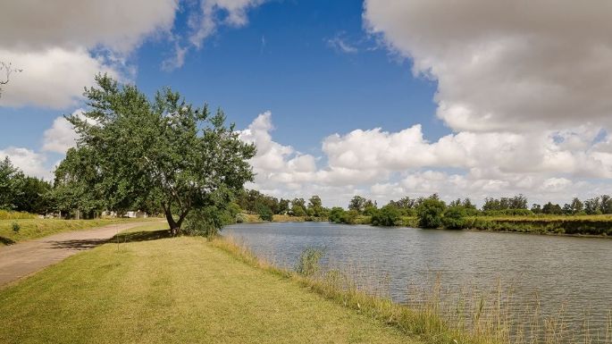
POLYGON ((95 248, 120 231, 151 222, 111 224, 85 231, 67 231, 0 247, 0 286, 17 281, 82 250, 95 248))

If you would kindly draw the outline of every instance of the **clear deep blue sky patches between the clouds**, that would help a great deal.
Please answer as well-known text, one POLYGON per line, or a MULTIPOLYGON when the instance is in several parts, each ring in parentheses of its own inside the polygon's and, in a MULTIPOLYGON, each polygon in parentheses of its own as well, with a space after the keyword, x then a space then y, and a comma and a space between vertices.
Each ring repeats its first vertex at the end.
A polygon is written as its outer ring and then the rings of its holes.
MULTIPOLYGON (((223 27, 173 71, 161 70, 172 42, 149 39, 130 56, 137 68, 133 81, 149 95, 171 86, 190 102, 220 106, 239 128, 270 110, 275 138, 305 152, 317 152, 334 132, 355 128, 400 130, 424 122, 432 138, 448 133, 434 117, 434 82, 414 78, 409 60, 377 46, 363 29, 362 10, 359 1, 264 4, 249 13, 247 27, 223 27), (358 52, 328 44, 339 36, 358 52)), ((176 29, 188 35, 187 28, 176 29)), ((8 118, 0 147, 38 148, 55 117, 74 108, 0 108, 8 118)))

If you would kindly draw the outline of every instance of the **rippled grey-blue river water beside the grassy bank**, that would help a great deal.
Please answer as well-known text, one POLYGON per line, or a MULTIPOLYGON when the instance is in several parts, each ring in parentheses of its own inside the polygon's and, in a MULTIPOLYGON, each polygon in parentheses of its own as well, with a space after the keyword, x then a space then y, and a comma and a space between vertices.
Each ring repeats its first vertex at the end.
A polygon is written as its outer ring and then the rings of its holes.
POLYGON ((605 331, 612 310, 612 239, 483 231, 381 228, 327 222, 236 224, 223 235, 241 239, 258 256, 292 267, 307 247, 324 248, 327 262, 387 275, 390 296, 406 302, 407 287, 440 276, 449 290, 512 286, 515 302, 535 299, 546 314, 563 308, 580 331, 605 331))

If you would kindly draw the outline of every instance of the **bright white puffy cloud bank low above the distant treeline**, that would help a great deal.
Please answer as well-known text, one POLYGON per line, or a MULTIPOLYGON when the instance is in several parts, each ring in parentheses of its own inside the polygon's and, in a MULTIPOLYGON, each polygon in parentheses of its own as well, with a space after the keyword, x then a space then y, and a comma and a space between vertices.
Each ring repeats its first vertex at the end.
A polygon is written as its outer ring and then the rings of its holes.
POLYGON ((459 132, 434 141, 420 125, 388 132, 353 130, 323 138, 323 156, 305 155, 272 138, 272 113, 257 116, 240 138, 256 144, 250 188, 277 197, 319 194, 345 205, 355 194, 383 203, 428 196, 484 197, 524 193, 532 201, 609 192, 610 138, 598 130, 459 132), (326 164, 322 164, 326 162, 326 164))

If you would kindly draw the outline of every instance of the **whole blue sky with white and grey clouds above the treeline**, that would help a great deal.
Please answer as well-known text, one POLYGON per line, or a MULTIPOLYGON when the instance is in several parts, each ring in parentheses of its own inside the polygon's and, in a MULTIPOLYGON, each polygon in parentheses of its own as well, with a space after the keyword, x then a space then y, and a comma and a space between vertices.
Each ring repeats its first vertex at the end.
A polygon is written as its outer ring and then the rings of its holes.
POLYGON ((0 158, 51 180, 107 72, 221 107, 275 197, 563 204, 612 193, 611 32, 607 0, 9 2, 0 158))

